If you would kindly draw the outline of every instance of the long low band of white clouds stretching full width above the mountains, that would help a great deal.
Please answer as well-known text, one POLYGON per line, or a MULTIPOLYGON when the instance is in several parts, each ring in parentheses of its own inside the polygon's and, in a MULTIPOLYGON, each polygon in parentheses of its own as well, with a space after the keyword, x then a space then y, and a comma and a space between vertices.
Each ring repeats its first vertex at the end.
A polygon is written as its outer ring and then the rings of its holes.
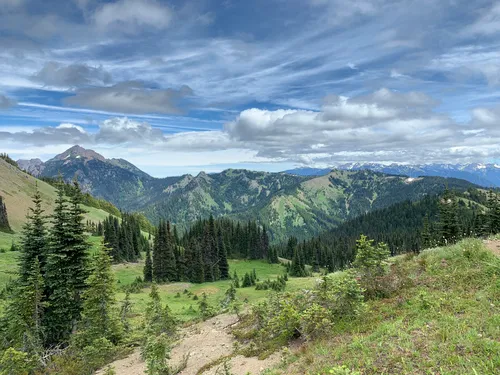
MULTIPOLYGON (((319 111, 247 109, 222 130, 164 134, 147 122, 110 118, 90 133, 72 124, 3 132, 23 144, 133 146, 151 152, 252 154, 253 160, 332 165, 344 161, 450 162, 500 157, 500 107, 476 108, 457 123, 419 92, 387 89, 357 97, 330 96, 319 111)), ((242 160, 232 160, 241 162, 242 160)))

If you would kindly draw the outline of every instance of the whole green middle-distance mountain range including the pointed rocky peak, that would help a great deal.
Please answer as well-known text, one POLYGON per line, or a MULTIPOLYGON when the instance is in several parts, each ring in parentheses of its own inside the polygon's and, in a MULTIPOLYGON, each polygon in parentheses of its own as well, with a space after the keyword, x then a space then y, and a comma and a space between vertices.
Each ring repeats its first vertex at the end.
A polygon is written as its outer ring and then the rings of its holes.
POLYGON ((182 227, 210 214, 256 219, 275 240, 315 235, 361 214, 438 194, 445 186, 462 191, 474 186, 459 179, 412 178, 362 168, 320 176, 228 169, 154 178, 126 160, 106 159, 80 146, 45 163, 35 159, 18 164, 38 177, 61 175, 70 181, 77 176, 84 191, 122 210, 142 212, 153 223, 165 218, 182 227))

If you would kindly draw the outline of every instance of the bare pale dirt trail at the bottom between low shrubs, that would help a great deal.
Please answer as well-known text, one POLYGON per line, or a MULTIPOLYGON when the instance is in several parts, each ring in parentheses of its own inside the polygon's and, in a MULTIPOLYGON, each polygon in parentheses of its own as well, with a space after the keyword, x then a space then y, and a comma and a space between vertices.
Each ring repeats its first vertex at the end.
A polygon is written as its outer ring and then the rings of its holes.
MULTIPOLYGON (((207 364, 232 354, 235 340, 230 333, 230 326, 236 320, 235 315, 224 314, 183 329, 180 333, 180 340, 171 352, 173 367, 181 363, 184 356, 189 355, 187 367, 179 375, 195 375, 207 364)), ((278 364, 280 360, 280 354, 274 354, 262 361, 257 358, 235 356, 229 363, 231 373, 234 375, 246 375, 247 373, 258 375, 264 369, 278 364)), ((117 375, 145 375, 146 367, 139 351, 113 362, 111 366, 115 368, 117 375)), ((221 366, 214 366, 203 374, 216 375, 219 367, 221 366)), ((97 375, 102 374, 103 371, 97 373, 97 375)))

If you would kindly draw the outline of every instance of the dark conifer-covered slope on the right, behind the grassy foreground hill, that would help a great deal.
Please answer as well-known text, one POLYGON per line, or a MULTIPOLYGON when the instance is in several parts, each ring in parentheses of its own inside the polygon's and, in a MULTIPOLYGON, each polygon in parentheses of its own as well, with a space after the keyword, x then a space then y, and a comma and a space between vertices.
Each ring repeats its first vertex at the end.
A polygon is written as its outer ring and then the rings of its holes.
POLYGON ((349 267, 356 255, 357 240, 364 234, 387 244, 391 255, 454 243, 463 237, 500 232, 500 200, 494 191, 446 190, 440 196, 405 201, 361 215, 309 240, 288 241, 271 247, 290 259, 291 276, 307 275, 320 268, 329 272, 349 267))

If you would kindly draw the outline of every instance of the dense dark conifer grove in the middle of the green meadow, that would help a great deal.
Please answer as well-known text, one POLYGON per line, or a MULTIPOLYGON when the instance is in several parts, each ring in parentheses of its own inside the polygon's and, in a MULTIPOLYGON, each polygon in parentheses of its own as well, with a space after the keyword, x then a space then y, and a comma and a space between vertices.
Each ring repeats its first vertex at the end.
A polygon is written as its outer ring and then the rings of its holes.
POLYGON ((203 283, 229 278, 228 258, 268 259, 277 262, 270 251, 265 227, 256 222, 229 219, 196 221, 179 236, 177 228, 161 221, 155 231, 153 249, 146 249, 144 281, 190 281, 203 283))

